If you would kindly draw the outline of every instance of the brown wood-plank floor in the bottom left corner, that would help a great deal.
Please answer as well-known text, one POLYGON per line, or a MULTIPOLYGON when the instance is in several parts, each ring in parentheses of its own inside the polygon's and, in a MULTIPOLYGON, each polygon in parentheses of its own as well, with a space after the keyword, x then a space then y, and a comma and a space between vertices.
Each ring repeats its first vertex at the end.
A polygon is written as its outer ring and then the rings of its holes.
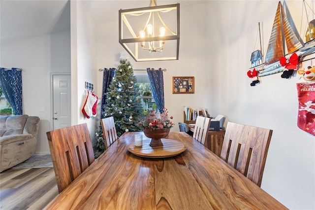
POLYGON ((0 173, 1 210, 41 210, 58 195, 54 168, 0 173))

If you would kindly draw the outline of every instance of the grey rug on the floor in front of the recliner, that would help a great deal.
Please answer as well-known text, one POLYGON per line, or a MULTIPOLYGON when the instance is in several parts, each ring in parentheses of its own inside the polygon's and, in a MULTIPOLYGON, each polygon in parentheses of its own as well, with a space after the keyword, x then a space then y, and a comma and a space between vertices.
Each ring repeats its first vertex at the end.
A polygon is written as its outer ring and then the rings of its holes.
POLYGON ((12 169, 54 168, 51 155, 33 155, 12 169))

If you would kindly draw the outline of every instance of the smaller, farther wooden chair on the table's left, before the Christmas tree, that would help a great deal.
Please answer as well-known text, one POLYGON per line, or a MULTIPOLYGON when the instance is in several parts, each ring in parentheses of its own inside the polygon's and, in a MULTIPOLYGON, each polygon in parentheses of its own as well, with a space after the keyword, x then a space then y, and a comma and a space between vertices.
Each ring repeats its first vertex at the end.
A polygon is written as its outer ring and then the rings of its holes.
POLYGON ((106 117, 101 119, 100 122, 103 129, 105 148, 107 149, 118 139, 115 127, 115 120, 114 117, 106 117))

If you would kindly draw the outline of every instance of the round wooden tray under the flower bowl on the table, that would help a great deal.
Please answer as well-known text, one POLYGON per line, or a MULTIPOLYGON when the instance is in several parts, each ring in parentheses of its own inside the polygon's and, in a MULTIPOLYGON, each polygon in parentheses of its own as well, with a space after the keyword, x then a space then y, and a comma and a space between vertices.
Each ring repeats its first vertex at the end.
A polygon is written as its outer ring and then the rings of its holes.
POLYGON ((178 155, 186 150, 186 145, 178 140, 161 139, 162 146, 150 146, 151 140, 143 140, 142 146, 135 146, 134 142, 128 146, 129 152, 140 157, 162 158, 178 155))

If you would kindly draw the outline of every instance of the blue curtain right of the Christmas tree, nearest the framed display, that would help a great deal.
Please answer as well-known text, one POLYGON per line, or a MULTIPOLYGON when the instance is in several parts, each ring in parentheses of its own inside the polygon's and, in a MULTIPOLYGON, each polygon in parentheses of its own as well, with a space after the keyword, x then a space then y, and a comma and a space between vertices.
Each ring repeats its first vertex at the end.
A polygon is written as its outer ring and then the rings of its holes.
POLYGON ((150 70, 150 68, 147 68, 147 73, 149 75, 153 98, 157 104, 159 112, 162 113, 164 108, 163 71, 162 69, 150 70))

